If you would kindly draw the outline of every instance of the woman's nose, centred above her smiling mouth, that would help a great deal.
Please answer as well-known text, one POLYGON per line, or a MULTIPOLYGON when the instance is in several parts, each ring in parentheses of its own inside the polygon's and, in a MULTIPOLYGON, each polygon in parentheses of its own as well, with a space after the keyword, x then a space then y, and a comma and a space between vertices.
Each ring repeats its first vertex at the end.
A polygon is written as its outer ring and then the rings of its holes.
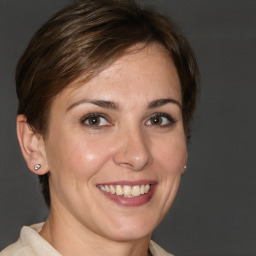
POLYGON ((119 136, 113 156, 117 165, 141 171, 151 164, 150 141, 140 129, 126 130, 119 136))

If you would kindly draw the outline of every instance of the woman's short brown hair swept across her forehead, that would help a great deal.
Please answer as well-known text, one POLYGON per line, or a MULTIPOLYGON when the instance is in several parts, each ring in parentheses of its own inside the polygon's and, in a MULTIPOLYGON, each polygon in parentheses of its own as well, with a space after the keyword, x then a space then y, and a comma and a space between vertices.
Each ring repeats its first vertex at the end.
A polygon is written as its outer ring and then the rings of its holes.
MULTIPOLYGON (((133 0, 80 0, 47 21, 32 37, 16 70, 18 114, 47 136, 51 102, 79 77, 99 74, 136 44, 158 42, 170 53, 182 90, 187 139, 198 94, 198 67, 193 51, 174 23, 133 0)), ((48 175, 39 176, 48 206, 48 175)))

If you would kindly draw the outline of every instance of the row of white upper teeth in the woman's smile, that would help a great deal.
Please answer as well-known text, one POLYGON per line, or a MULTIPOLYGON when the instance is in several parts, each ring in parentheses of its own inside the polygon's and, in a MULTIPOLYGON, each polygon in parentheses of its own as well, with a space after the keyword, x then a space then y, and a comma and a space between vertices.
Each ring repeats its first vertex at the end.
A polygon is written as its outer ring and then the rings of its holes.
POLYGON ((123 187, 121 185, 100 185, 99 188, 102 191, 111 193, 111 194, 116 194, 118 196, 124 196, 124 197, 136 197, 139 195, 143 195, 148 193, 148 191, 151 188, 150 184, 146 185, 141 185, 141 186, 129 186, 129 185, 124 185, 123 187))

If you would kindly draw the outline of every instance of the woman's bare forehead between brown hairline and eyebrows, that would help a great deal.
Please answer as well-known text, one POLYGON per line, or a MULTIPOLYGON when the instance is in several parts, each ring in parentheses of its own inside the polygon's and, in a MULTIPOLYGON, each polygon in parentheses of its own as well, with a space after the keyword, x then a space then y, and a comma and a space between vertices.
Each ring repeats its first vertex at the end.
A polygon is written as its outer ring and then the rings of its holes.
POLYGON ((160 44, 135 45, 88 82, 81 78, 59 93, 67 105, 83 97, 105 100, 163 98, 181 102, 180 81, 167 50, 160 44))

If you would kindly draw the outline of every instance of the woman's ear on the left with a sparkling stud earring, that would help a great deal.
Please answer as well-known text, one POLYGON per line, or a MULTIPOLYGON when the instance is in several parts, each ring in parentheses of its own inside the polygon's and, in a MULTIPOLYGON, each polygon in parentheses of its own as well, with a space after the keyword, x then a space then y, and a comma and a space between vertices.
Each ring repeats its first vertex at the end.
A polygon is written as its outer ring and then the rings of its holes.
POLYGON ((38 175, 46 174, 48 164, 42 135, 33 131, 24 115, 17 116, 16 127, 21 152, 28 168, 38 175), (41 166, 38 170, 35 169, 37 164, 41 166))

